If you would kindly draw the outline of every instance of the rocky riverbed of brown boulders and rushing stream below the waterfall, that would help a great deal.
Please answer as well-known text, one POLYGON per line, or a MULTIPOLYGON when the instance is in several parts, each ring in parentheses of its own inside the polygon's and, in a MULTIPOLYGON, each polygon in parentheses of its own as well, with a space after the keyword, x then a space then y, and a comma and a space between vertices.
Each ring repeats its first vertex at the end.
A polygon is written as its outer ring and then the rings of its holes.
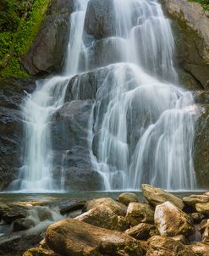
POLYGON ((209 255, 208 192, 177 197, 146 184, 141 190, 143 198, 5 198, 0 255, 209 255))

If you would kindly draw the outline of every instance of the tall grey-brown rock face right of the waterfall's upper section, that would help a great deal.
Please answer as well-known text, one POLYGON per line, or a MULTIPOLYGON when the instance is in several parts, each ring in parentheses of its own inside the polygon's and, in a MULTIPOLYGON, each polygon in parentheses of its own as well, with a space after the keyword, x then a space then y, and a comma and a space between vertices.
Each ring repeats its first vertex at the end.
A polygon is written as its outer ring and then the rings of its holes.
POLYGON ((187 0, 162 0, 162 5, 177 24, 174 34, 180 68, 203 88, 209 88, 209 15, 200 3, 187 0))

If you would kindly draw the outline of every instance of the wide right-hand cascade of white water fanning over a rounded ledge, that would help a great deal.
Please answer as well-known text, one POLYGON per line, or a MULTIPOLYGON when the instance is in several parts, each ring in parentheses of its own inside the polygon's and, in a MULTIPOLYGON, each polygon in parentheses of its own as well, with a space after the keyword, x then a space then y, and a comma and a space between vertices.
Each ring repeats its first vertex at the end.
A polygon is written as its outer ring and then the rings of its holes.
MULTIPOLYGON (((92 164, 106 190, 138 189, 142 182, 194 189, 195 107, 191 93, 173 85, 169 20, 155 0, 114 0, 114 11, 112 41, 123 42, 117 49, 123 63, 104 70, 98 86, 92 164)), ((91 139, 93 145, 94 134, 91 139)))

